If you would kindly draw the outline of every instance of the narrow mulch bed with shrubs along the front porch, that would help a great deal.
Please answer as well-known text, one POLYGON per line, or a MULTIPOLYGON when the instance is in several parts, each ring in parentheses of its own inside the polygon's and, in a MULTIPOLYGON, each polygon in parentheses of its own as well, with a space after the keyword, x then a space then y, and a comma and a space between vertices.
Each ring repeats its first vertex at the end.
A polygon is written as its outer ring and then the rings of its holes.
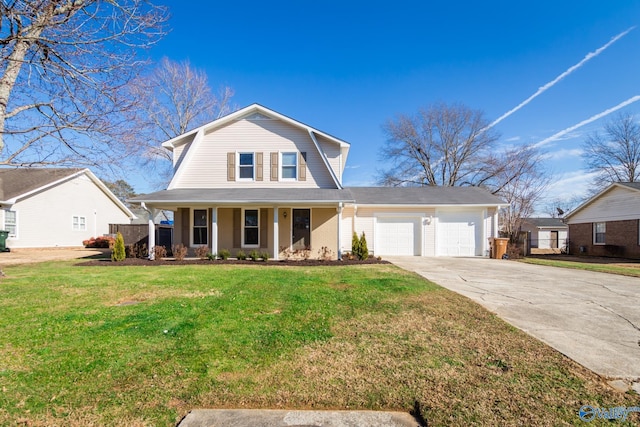
POLYGON ((126 258, 123 261, 114 262, 111 259, 94 259, 91 261, 84 261, 77 263, 75 265, 83 266, 83 267, 126 267, 126 266, 139 266, 139 267, 154 267, 156 265, 259 265, 259 266, 294 266, 294 267, 309 267, 309 266, 322 266, 322 267, 331 267, 331 266, 340 266, 340 265, 361 265, 361 264, 389 264, 389 261, 378 260, 377 258, 369 258, 364 261, 360 260, 348 260, 344 259, 342 261, 323 261, 323 260, 315 260, 315 259, 307 259, 307 260, 269 260, 269 261, 251 261, 251 260, 236 260, 236 259, 228 259, 228 260, 215 260, 210 261, 207 259, 195 259, 195 258, 187 258, 184 260, 175 260, 175 259, 161 259, 156 261, 150 261, 148 259, 142 258, 126 258))

